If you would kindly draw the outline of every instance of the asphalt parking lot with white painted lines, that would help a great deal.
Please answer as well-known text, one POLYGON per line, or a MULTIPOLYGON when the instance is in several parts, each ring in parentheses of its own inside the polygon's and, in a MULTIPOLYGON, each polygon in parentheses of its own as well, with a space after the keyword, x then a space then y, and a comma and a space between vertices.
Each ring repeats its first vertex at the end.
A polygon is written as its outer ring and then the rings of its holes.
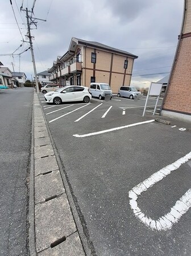
POLYGON ((146 99, 39 99, 92 254, 190 255, 187 127, 154 121, 154 99, 144 117, 146 99))

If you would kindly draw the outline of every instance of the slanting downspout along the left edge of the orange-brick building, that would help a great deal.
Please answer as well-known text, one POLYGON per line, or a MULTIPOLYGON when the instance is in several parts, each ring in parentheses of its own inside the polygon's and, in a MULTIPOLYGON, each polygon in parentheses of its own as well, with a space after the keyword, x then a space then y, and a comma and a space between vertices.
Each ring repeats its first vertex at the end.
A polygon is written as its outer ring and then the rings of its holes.
POLYGON ((179 51, 179 47, 180 47, 180 41, 181 41, 181 38, 182 38, 182 31, 183 31, 183 28, 184 28, 185 15, 186 15, 186 1, 187 1, 187 0, 184 0, 184 13, 183 13, 183 17, 182 17, 182 24, 181 24, 180 36, 179 36, 178 44, 177 44, 177 47, 176 47, 175 58, 174 58, 174 60, 173 60, 171 72, 170 72, 170 75, 169 75, 169 78, 168 78, 168 83, 167 83, 167 88, 166 88, 166 90, 165 90, 165 94, 164 94, 164 98, 163 98, 163 103, 162 103, 162 105, 161 105, 160 115, 161 115, 161 112, 162 112, 162 109, 163 109, 164 101, 165 101, 165 99, 166 99, 166 97, 167 97, 169 82, 171 81, 172 73, 173 73, 173 70, 174 70, 174 67, 175 67, 175 63, 176 63, 176 60, 177 60, 177 55, 178 55, 178 51, 179 51))

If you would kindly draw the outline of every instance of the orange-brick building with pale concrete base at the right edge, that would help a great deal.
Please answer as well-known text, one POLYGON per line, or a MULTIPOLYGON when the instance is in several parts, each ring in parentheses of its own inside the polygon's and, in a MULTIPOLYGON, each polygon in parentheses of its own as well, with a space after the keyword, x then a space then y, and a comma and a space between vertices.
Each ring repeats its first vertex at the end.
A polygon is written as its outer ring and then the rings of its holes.
POLYGON ((169 76, 161 115, 191 120, 191 0, 184 14, 175 59, 169 76))

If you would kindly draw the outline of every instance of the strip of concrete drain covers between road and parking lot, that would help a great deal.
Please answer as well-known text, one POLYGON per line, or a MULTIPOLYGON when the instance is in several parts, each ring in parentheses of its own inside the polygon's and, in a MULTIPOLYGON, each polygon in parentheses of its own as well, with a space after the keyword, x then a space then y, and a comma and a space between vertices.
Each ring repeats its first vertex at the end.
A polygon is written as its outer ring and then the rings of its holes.
POLYGON ((36 92, 33 120, 29 203, 30 255, 84 256, 36 92))

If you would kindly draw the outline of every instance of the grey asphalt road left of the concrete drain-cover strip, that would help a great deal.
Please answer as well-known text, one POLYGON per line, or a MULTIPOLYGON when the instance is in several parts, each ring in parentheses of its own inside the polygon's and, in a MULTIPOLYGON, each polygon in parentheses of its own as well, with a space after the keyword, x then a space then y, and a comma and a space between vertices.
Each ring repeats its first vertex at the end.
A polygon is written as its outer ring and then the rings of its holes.
POLYGON ((32 88, 0 91, 0 254, 27 255, 32 88))

